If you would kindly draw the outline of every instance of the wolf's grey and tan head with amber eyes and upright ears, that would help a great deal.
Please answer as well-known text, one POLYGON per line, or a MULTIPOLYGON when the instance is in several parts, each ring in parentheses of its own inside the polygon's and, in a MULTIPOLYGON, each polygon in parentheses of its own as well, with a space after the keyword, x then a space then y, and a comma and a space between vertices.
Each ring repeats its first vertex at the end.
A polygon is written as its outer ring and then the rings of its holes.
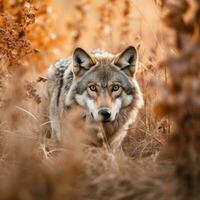
POLYGON ((132 46, 118 55, 75 49, 74 99, 86 108, 91 119, 112 122, 121 109, 133 105, 140 92, 134 80, 136 61, 137 52, 132 46))

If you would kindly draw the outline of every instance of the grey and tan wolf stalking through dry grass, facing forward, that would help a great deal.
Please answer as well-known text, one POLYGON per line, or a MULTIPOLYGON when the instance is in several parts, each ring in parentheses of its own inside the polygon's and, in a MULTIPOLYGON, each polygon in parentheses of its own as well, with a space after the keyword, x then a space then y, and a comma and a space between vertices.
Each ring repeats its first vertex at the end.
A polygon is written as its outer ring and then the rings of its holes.
POLYGON ((101 126, 113 151, 121 148, 128 126, 136 120, 143 95, 135 78, 137 51, 129 46, 119 54, 77 47, 71 57, 47 72, 49 120, 61 140, 61 120, 70 108, 84 109, 85 121, 101 126))

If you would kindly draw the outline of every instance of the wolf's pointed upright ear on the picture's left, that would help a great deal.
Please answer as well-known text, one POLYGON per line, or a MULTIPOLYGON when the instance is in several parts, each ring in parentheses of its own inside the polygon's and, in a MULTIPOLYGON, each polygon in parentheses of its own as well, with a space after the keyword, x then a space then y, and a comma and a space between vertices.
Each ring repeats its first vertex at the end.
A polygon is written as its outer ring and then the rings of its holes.
POLYGON ((73 54, 73 73, 81 75, 95 65, 95 61, 82 48, 76 48, 73 54), (82 73, 81 73, 82 72, 82 73))

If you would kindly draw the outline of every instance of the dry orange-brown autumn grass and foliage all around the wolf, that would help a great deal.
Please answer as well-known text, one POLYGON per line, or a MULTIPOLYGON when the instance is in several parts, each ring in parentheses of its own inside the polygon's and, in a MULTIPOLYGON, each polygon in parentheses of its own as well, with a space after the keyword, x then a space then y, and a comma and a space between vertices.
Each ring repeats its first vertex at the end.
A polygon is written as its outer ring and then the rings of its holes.
POLYGON ((0 199, 200 198, 200 5, 189 5, 0 1, 0 199), (41 140, 47 66, 76 46, 118 52, 130 44, 145 105, 125 155, 83 143, 91 127, 80 110, 60 146, 41 140))

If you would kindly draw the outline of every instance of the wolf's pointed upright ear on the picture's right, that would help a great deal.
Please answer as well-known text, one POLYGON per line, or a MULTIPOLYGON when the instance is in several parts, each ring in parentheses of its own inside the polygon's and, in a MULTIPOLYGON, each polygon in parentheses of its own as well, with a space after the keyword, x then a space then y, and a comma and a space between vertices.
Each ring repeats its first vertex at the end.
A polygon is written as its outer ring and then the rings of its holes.
POLYGON ((135 74, 136 62, 137 51, 133 46, 126 48, 114 60, 114 64, 131 77, 135 74))

